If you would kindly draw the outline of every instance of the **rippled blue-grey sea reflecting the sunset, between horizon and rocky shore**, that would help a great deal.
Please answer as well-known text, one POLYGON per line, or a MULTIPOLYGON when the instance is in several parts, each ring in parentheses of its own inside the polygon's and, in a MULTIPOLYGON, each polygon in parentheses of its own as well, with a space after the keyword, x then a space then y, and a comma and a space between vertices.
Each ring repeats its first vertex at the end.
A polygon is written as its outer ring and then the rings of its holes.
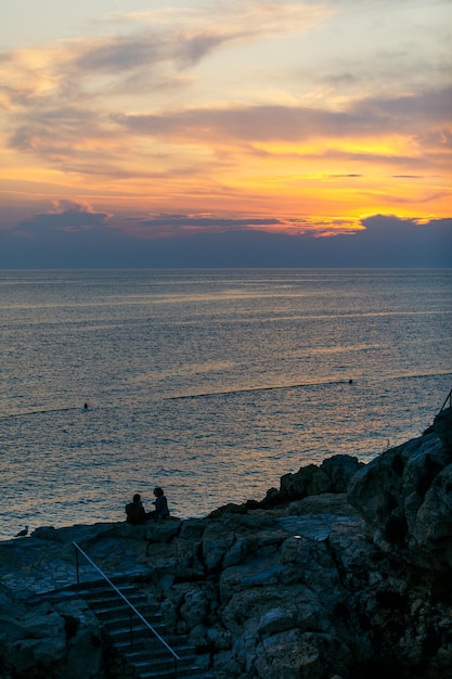
POLYGON ((0 539, 261 500, 419 436, 452 387, 451 269, 0 271, 0 539))

